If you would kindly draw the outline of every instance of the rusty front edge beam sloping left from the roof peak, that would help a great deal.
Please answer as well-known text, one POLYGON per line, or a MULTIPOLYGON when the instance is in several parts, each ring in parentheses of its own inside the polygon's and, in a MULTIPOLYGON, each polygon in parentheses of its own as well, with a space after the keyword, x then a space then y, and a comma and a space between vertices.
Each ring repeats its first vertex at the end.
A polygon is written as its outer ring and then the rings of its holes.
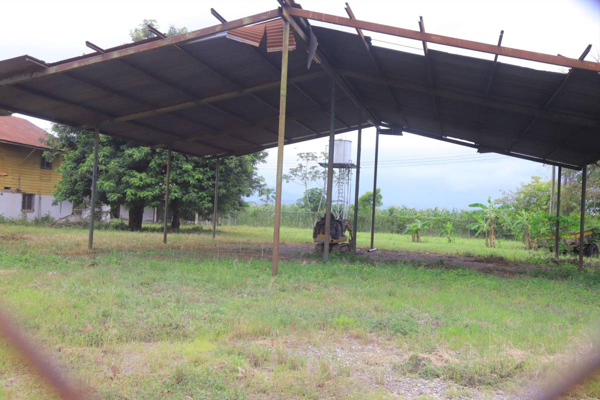
POLYGON ((38 79, 44 76, 64 73, 66 71, 73 70, 74 68, 86 67, 88 65, 94 65, 104 61, 120 59, 125 56, 139 54, 147 52, 149 50, 160 49, 161 47, 170 46, 172 44, 185 43, 187 41, 194 40, 197 38, 217 34, 218 32, 229 31, 229 29, 241 28, 242 26, 251 25, 253 23, 265 22, 271 19, 275 19, 280 17, 280 14, 281 11, 279 9, 270 10, 264 13, 254 14, 253 16, 248 16, 230 22, 221 23, 219 25, 208 26, 207 28, 198 29, 197 31, 172 36, 167 38, 166 40, 150 41, 147 43, 137 44, 136 46, 115 50, 106 54, 99 54, 95 56, 90 56, 89 58, 65 62, 64 64, 53 65, 52 67, 49 67, 44 71, 19 74, 16 76, 7 77, 5 79, 0 79, 0 86, 12 85, 13 83, 25 82, 32 79, 38 79))

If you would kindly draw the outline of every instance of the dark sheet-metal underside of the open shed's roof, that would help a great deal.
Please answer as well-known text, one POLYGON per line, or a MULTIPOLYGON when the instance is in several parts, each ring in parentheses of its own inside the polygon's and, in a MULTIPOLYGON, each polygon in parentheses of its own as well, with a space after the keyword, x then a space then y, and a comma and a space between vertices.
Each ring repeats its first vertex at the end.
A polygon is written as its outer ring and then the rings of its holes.
MULTIPOLYGON (((359 35, 322 27, 313 32, 383 124, 577 169, 600 159, 596 72, 572 71, 556 93, 566 74, 498 62, 488 91, 493 61, 429 50, 430 82, 425 56, 372 46, 379 74, 359 35)), ((289 53, 286 144, 329 134, 329 78, 317 62, 307 70, 305 44, 296 39, 289 53)), ((0 86, 0 109, 73 127, 98 125, 107 135, 190 155, 249 154, 277 146, 281 53, 268 52, 267 41, 265 35, 254 47, 222 32, 7 83, 0 86)), ((46 68, 31 60, 0 62, 0 84, 46 68)), ((367 116, 359 121, 343 91, 336 94, 336 133, 370 126, 367 116)))

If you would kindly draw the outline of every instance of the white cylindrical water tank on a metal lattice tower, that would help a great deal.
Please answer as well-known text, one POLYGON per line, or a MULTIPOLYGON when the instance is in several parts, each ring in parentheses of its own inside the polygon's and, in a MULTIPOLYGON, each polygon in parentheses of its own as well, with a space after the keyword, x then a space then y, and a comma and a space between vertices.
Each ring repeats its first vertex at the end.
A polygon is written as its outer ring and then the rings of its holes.
MULTIPOLYGON (((325 146, 325 153, 329 151, 329 145, 325 146)), ((319 163, 327 168, 328 163, 319 163)), ((352 163, 352 141, 336 139, 334 141, 334 184, 331 194, 331 212, 337 219, 347 219, 350 210, 350 182, 352 182, 352 170, 356 164, 352 163)))

